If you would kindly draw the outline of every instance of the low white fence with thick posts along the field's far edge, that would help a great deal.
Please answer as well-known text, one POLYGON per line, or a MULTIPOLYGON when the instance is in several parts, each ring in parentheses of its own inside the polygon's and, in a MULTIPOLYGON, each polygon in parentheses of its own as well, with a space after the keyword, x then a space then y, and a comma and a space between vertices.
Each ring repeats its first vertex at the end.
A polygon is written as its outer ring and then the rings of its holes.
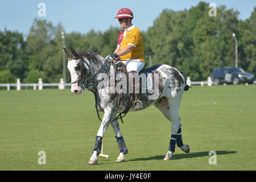
MULTIPOLYGON (((207 81, 191 81, 190 77, 187 77, 186 82, 189 86, 191 86, 191 85, 212 86, 213 85, 213 81, 210 77, 208 77, 207 81)), ((254 84, 256 84, 256 81, 254 81, 254 84)), ((71 86, 71 84, 64 83, 63 78, 60 78, 59 83, 53 83, 53 84, 50 84, 50 83, 44 84, 43 81, 42 81, 42 78, 39 78, 39 81, 36 84, 22 84, 20 82, 20 79, 17 78, 16 84, 0 84, 0 86, 6 87, 7 90, 9 91, 11 86, 16 87, 16 90, 21 90, 22 86, 32 86, 34 90, 36 90, 36 89, 43 90, 43 88, 46 87, 46 86, 57 86, 58 89, 65 89, 67 86, 71 86)))

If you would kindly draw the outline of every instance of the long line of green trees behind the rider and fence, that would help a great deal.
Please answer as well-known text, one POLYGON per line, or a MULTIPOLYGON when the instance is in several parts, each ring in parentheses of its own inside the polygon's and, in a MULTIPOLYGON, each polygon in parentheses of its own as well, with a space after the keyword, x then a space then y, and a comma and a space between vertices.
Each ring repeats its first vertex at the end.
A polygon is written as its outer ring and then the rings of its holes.
MULTIPOLYGON (((238 40, 238 67, 256 75, 256 7, 250 18, 238 20, 239 12, 217 7, 210 17, 208 3, 189 10, 163 10, 152 27, 142 32, 147 67, 169 64, 183 70, 191 80, 205 80, 217 67, 235 65, 234 32, 238 40)), ((139 28, 139 24, 135 24, 139 28)), ((59 82, 63 77, 63 39, 61 24, 35 19, 30 33, 0 31, 0 82, 59 82)), ((105 32, 65 34, 65 46, 87 49, 105 57, 117 46, 118 27, 105 32)), ((67 81, 70 81, 68 70, 67 81)))

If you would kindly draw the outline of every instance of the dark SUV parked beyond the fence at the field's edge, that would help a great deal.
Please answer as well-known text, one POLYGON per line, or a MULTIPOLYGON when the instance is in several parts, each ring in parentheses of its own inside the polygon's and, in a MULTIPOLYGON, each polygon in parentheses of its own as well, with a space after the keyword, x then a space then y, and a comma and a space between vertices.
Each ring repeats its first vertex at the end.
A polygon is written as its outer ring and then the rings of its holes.
POLYGON ((246 73, 242 68, 236 67, 225 67, 217 68, 212 72, 212 80, 214 85, 229 83, 229 84, 240 84, 241 82, 247 82, 253 84, 254 81, 253 73, 246 73))

